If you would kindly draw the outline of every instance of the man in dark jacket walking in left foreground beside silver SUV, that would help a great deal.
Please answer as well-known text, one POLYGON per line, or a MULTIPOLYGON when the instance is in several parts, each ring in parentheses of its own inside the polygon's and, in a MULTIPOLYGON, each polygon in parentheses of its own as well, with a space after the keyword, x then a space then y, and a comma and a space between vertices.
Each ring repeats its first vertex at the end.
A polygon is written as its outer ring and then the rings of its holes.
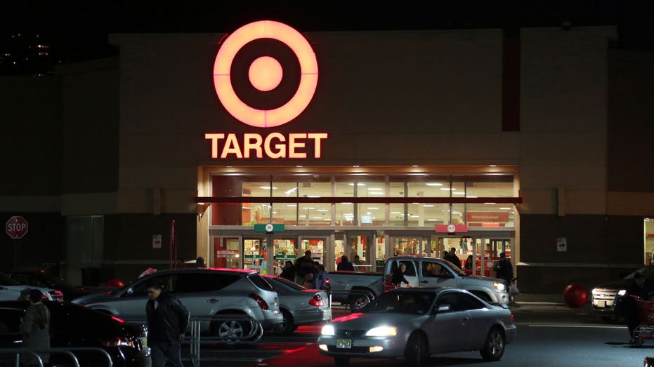
POLYGON ((171 366, 183 367, 181 345, 188 326, 188 309, 173 295, 162 293, 163 285, 150 281, 145 288, 148 303, 148 346, 152 351, 152 367, 164 367, 166 358, 171 366))

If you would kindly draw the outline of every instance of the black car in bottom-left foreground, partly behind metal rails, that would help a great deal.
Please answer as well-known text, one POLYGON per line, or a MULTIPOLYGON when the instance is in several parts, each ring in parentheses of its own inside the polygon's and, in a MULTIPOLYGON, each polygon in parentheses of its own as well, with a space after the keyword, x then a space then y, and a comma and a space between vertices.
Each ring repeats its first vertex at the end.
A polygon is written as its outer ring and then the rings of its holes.
MULTIPOLYGON (((20 347, 20 319, 29 302, 0 302, 0 348, 20 347)), ((72 303, 44 301, 51 313, 50 346, 53 348, 98 347, 112 359, 113 366, 150 367, 148 329, 72 303)), ((74 352, 80 366, 107 366, 99 352, 74 352)), ((6 356, 1 356, 2 360, 6 356)), ((70 357, 51 354, 51 364, 72 364, 70 357)))

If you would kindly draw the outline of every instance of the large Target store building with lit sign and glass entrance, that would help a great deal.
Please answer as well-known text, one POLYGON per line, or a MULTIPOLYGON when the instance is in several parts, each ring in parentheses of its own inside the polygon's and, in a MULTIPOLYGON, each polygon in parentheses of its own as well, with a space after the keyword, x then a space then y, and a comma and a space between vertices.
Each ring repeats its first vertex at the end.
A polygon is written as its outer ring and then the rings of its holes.
POLYGON ((561 293, 649 262, 652 58, 614 27, 225 31, 112 34, 115 58, 2 79, 22 164, 0 213, 30 225, 4 267, 379 271, 454 247, 561 293))

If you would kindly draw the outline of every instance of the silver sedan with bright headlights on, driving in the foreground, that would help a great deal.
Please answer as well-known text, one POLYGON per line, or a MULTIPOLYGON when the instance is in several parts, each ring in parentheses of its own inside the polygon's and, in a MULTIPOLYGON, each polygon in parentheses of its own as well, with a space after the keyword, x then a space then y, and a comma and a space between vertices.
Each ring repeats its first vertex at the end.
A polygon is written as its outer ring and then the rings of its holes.
POLYGON ((339 317, 322 328, 320 353, 336 366, 351 357, 405 357, 419 366, 432 354, 478 350, 497 361, 516 338, 513 315, 454 288, 398 288, 382 293, 361 313, 339 317))

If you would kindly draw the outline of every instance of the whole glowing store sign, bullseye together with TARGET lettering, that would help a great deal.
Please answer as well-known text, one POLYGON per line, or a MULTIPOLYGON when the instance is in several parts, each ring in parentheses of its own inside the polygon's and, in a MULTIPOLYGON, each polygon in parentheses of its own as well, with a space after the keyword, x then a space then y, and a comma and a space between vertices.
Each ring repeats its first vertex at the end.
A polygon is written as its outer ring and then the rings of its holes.
MULTIPOLYGON (((252 22, 222 42, 213 70, 216 95, 235 119, 256 128, 287 124, 309 105, 318 62, 306 38, 272 20, 252 22)), ((327 133, 207 133, 211 158, 320 158, 327 133)))

